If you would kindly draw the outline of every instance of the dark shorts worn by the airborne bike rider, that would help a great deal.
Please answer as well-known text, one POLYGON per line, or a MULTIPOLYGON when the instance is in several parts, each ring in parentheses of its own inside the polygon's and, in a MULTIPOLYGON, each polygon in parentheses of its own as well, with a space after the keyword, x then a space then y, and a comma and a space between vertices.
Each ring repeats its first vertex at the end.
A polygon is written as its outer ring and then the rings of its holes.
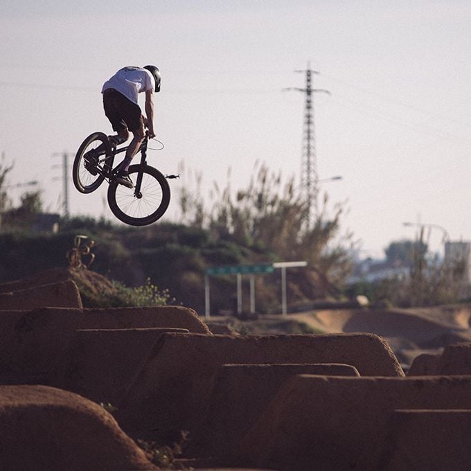
POLYGON ((141 108, 115 89, 103 92, 105 115, 112 123, 113 130, 120 132, 126 128, 131 132, 143 127, 141 108))

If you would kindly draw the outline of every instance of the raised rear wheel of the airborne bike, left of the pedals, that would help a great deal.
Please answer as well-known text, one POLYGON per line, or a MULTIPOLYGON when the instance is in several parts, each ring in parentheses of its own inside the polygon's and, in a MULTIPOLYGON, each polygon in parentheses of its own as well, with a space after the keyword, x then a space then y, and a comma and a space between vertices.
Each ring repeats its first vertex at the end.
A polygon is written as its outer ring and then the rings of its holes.
POLYGON ((106 156, 111 155, 108 137, 94 132, 82 142, 73 161, 73 184, 80 193, 91 193, 103 183, 106 156))

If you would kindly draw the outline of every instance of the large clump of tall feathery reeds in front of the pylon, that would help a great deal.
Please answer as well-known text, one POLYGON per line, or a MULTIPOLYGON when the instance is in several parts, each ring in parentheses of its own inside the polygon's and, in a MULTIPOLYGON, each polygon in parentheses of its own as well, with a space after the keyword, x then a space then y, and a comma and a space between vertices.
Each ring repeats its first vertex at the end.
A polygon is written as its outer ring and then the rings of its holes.
POLYGON ((346 245, 351 244, 351 235, 339 236, 344 204, 336 204, 329 213, 326 196, 314 224, 307 227, 307 204, 294 180, 283 184, 281 174, 270 172, 265 165, 256 164, 245 190, 233 192, 230 184, 220 190, 215 184, 213 206, 204 217, 199 193, 195 201, 188 191, 184 196, 185 209, 195 211, 193 217, 186 213, 188 221, 204 220, 215 238, 258 249, 265 260, 257 262, 267 261, 268 256, 276 261, 307 261, 308 269, 299 276, 299 289, 308 299, 337 293, 337 285, 350 272, 346 245))

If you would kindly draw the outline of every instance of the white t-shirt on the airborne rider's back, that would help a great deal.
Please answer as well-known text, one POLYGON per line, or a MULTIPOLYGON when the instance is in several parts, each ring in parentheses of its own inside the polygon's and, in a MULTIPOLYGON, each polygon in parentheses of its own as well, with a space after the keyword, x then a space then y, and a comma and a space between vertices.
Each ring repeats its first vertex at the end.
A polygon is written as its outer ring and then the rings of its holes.
POLYGON ((137 103, 137 94, 142 91, 154 90, 155 79, 152 73, 141 67, 123 67, 119 69, 109 80, 103 84, 101 93, 106 89, 114 88, 129 98, 132 103, 137 103))

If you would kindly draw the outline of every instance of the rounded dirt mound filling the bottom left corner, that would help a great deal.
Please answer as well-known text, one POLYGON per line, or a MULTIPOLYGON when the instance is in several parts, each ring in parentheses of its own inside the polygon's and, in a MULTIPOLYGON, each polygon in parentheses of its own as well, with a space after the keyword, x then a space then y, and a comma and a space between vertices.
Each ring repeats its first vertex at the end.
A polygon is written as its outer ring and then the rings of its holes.
POLYGON ((47 386, 0 386, 0 469, 152 471, 103 407, 47 386))

